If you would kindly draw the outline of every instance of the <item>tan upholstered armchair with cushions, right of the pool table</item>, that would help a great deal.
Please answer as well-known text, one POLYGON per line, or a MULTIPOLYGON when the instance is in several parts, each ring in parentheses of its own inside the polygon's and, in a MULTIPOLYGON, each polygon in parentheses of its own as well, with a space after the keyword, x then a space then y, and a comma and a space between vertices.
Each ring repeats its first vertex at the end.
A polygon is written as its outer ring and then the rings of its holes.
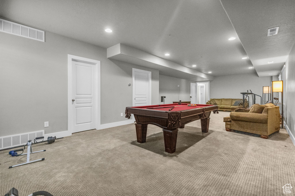
POLYGON ((255 104, 253 106, 250 110, 240 109, 240 112, 231 112, 229 117, 225 117, 223 121, 226 130, 259 134, 261 138, 265 139, 268 138, 268 135, 280 130, 281 115, 279 106, 272 103, 265 105, 255 104))

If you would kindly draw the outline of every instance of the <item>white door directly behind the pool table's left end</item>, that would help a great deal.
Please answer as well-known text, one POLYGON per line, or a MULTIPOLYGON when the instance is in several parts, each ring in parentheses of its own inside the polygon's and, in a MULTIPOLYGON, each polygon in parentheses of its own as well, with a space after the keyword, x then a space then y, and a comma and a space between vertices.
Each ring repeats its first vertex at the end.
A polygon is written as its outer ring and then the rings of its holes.
POLYGON ((151 105, 152 72, 132 68, 132 106, 151 105))

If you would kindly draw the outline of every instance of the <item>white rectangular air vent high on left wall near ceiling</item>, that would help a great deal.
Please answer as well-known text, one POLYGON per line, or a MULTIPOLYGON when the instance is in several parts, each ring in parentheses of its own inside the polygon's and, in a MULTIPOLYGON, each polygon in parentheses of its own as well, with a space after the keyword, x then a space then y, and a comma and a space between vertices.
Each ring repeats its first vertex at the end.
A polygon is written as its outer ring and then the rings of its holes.
POLYGON ((0 19, 0 31, 45 42, 44 31, 3 19, 0 19))

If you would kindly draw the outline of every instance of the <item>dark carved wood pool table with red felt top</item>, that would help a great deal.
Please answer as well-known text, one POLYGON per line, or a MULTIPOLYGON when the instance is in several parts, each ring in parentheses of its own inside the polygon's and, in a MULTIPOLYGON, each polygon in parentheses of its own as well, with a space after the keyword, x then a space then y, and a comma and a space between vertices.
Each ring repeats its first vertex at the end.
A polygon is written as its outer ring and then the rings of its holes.
POLYGON ((218 113, 217 105, 188 106, 188 104, 176 103, 126 107, 125 117, 129 119, 131 114, 134 115, 137 142, 139 143, 145 143, 148 124, 163 128, 165 151, 174 153, 178 128, 184 128, 185 124, 201 119, 202 132, 207 133, 211 111, 214 114, 218 113))

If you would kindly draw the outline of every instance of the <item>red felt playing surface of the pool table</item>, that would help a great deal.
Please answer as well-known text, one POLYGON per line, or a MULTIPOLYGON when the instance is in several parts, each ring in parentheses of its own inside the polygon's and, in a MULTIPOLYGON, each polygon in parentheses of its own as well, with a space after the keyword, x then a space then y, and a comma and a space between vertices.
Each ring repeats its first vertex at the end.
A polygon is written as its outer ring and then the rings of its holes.
POLYGON ((142 108, 142 109, 150 109, 150 110, 162 110, 162 111, 182 111, 182 110, 190 110, 190 109, 196 109, 196 108, 203 108, 203 107, 207 107, 210 105, 203 105, 203 104, 196 104, 195 106, 188 106, 187 103, 173 103, 173 104, 163 104, 163 105, 148 105, 148 106, 137 106, 137 107, 132 107, 132 108, 142 108), (161 108, 161 107, 168 107, 171 106, 169 108, 161 108), (173 108, 172 110, 170 110, 172 107, 176 106, 175 108, 173 108), (181 106, 181 107, 177 107, 177 106, 181 106))

